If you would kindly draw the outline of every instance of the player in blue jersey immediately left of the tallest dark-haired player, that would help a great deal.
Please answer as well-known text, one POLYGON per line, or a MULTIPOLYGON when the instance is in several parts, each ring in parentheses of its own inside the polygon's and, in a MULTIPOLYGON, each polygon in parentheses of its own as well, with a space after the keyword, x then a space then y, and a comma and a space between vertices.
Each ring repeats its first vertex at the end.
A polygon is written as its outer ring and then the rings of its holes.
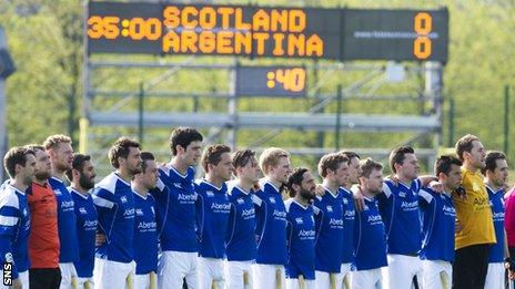
POLYGON ((158 166, 152 153, 141 152, 141 173, 131 183, 134 192, 134 288, 154 289, 158 271, 155 200, 149 189, 158 184, 158 166))

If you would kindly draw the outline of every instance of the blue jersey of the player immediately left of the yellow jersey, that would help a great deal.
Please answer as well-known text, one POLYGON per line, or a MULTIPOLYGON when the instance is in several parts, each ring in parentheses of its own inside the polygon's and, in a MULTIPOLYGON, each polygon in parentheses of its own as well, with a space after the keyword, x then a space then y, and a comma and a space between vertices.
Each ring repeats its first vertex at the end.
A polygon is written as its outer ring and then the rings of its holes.
POLYGON ((456 210, 452 196, 431 188, 422 188, 418 196, 424 236, 421 258, 453 262, 456 210))

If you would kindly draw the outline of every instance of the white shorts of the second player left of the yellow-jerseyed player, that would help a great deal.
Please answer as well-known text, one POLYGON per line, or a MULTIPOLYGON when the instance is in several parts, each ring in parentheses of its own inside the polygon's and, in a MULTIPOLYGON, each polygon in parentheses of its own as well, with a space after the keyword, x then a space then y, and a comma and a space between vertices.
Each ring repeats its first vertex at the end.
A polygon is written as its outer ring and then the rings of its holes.
MULTIPOLYGON (((388 254, 388 266, 383 267, 384 285, 390 289, 410 289, 413 277, 422 280, 422 260, 418 256, 388 254)), ((418 286, 418 288, 421 288, 418 286)))

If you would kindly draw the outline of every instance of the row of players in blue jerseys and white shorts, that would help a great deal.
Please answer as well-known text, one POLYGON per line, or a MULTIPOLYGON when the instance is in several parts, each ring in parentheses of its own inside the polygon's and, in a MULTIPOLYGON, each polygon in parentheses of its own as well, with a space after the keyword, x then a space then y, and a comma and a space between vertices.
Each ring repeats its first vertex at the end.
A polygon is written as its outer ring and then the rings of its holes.
MULTIPOLYGON (((58 140, 68 152, 69 140, 58 140)), ((202 141, 194 128, 175 128, 173 157, 158 167, 151 153, 121 137, 109 151, 114 172, 97 185, 89 156, 75 154, 68 166, 61 162, 61 177, 50 177, 60 192, 61 288, 182 288, 183 281, 188 288, 411 288, 414 281, 422 288, 471 288, 458 286, 466 272, 455 269, 453 276, 452 266, 452 194, 462 185, 462 162, 486 176, 497 233, 489 262, 501 265, 488 267, 485 288, 503 288, 502 153, 486 155, 485 167, 484 152, 474 155, 474 144, 460 159, 438 157, 435 176, 418 176, 415 152, 401 146, 392 151, 393 175, 384 179, 380 163, 341 152, 321 158, 323 183, 316 185, 309 169, 291 168, 284 149, 267 148, 258 162, 250 149, 231 153, 218 144, 201 157, 202 141), (195 180, 199 159, 205 176, 195 180), (62 217, 70 199, 74 214, 62 217)), ((0 192, 0 261, 13 264, 14 285, 23 288, 31 226, 26 190, 44 167, 39 163, 48 162, 47 152, 59 162, 59 152, 49 152, 59 148, 59 142, 13 147, 4 157, 11 179, 0 192)))

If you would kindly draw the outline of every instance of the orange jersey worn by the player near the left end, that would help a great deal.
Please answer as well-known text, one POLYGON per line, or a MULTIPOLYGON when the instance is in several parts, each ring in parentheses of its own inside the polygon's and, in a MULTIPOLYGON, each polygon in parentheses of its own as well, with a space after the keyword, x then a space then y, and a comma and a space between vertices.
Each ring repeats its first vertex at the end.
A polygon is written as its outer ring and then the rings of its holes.
POLYGON ((30 268, 59 267, 58 205, 52 187, 32 183, 30 208, 30 268))

